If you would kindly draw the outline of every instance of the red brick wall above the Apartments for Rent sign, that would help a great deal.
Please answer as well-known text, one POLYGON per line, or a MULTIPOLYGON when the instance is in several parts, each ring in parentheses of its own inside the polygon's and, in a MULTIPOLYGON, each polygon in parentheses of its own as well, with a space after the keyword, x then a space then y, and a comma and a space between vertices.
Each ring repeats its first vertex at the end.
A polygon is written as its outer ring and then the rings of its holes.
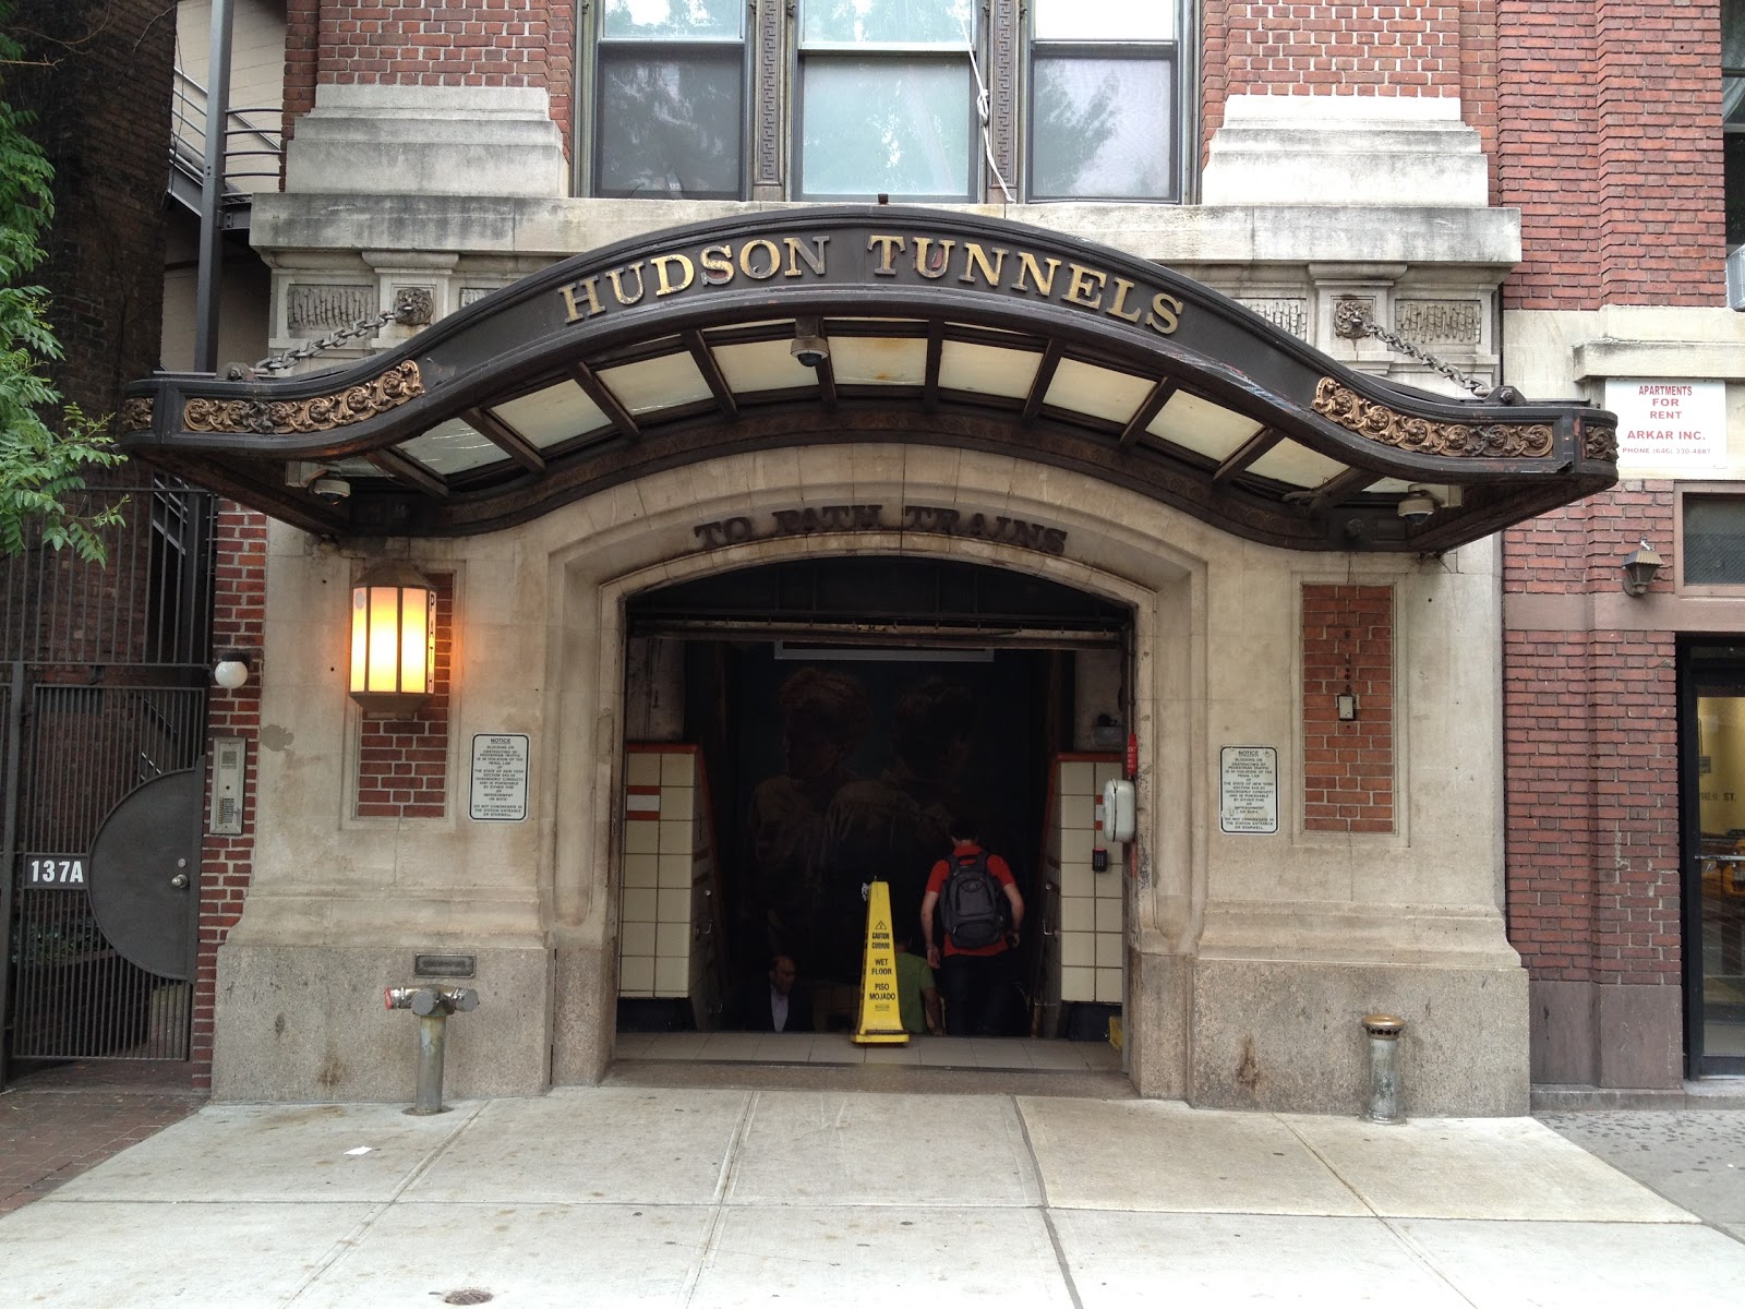
POLYGON ((1497 0, 1509 307, 1722 304, 1719 68, 1717 0, 1497 0))

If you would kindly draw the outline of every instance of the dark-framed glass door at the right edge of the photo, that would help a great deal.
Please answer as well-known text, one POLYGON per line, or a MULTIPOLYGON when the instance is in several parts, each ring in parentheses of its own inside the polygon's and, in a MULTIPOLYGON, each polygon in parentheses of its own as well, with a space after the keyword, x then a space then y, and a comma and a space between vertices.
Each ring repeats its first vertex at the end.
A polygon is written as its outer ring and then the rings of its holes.
POLYGON ((1684 677, 1689 1072, 1745 1072, 1745 648, 1693 646, 1684 677))

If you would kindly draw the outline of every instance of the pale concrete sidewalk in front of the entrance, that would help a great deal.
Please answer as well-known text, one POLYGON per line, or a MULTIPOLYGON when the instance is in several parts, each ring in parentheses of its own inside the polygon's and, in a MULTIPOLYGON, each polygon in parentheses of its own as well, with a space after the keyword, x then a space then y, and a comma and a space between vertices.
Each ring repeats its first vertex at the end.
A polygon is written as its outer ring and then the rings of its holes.
POLYGON ((1532 1119, 607 1086, 424 1119, 208 1107, 0 1220, 0 1285, 80 1309, 1684 1309, 1736 1304, 1745 1244, 1532 1119))

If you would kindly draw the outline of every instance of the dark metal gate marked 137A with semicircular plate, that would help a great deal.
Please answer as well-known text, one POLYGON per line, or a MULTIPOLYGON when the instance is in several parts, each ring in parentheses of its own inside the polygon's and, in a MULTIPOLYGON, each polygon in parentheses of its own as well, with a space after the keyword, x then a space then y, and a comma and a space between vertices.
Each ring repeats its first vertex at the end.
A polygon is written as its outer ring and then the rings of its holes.
POLYGON ((0 1086, 16 1058, 188 1058, 213 497, 91 494, 127 499, 105 567, 0 564, 0 1086))

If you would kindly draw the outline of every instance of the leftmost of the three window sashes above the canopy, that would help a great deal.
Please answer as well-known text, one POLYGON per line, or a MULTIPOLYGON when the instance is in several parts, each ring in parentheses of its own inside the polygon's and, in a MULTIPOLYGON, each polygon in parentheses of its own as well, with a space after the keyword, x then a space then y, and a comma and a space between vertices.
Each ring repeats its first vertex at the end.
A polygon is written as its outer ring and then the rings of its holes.
POLYGON ((602 10, 593 194, 738 199, 745 0, 607 0, 602 10))

